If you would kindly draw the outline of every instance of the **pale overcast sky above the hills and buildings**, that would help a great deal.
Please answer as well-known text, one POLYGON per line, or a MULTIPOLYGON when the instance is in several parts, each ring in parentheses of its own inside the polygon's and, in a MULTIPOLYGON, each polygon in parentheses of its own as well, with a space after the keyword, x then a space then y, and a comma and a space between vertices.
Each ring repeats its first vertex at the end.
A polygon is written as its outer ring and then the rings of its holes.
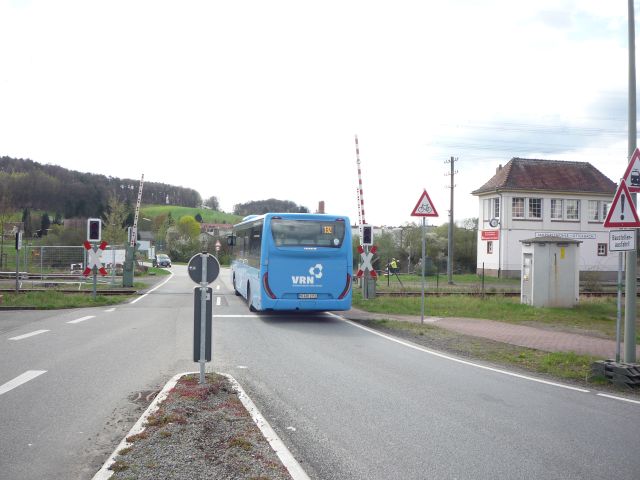
MULTIPOLYGON (((638 5, 636 5, 638 11, 638 5)), ((448 219, 512 157, 627 162, 625 0, 0 0, 0 156, 448 219)), ((419 220, 418 220, 419 221, 419 220)))

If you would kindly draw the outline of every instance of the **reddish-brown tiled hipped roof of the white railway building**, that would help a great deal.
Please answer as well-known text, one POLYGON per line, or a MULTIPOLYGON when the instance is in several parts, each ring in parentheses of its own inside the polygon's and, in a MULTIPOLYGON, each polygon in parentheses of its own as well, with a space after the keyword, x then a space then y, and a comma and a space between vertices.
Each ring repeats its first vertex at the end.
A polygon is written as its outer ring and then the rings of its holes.
POLYGON ((473 195, 496 191, 537 190, 613 195, 617 185, 588 162, 512 158, 473 195))

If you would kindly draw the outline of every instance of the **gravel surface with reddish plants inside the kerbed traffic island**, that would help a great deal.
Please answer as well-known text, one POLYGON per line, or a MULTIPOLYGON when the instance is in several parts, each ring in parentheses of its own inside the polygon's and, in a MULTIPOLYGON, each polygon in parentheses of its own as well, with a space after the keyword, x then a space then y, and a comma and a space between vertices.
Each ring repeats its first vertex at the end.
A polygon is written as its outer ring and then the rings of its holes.
POLYGON ((127 437, 112 480, 290 480, 230 380, 181 377, 144 429, 127 437))

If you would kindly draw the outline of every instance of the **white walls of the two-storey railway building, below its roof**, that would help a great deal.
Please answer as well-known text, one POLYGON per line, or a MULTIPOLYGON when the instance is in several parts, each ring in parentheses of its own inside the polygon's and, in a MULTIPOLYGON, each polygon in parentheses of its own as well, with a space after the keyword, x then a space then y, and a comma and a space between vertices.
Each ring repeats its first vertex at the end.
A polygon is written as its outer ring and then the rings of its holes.
MULTIPOLYGON (((567 238, 581 240, 578 259, 578 268, 581 272, 613 272, 618 268, 618 256, 609 252, 609 230, 602 224, 604 218, 598 221, 588 220, 588 201, 611 202, 612 197, 606 195, 578 195, 574 193, 540 193, 540 192, 504 192, 501 195, 487 194, 479 196, 479 222, 478 222, 478 256, 477 267, 482 269, 484 262, 485 271, 519 276, 521 269, 521 240, 544 235, 566 236, 567 238), (512 212, 512 199, 514 197, 542 199, 542 218, 514 219, 512 212), (500 199, 500 224, 493 228, 489 225, 491 218, 486 218, 483 201, 485 199, 500 199), (552 220, 551 199, 578 199, 580 200, 580 219, 577 221, 552 220), (484 235, 498 236, 498 240, 483 240, 484 235), (497 232, 497 233, 495 233, 497 232), (487 242, 491 241, 493 252, 487 252, 487 242), (598 255, 598 244, 606 245, 606 255, 598 255)), ((602 217, 602 212, 600 212, 602 217)))

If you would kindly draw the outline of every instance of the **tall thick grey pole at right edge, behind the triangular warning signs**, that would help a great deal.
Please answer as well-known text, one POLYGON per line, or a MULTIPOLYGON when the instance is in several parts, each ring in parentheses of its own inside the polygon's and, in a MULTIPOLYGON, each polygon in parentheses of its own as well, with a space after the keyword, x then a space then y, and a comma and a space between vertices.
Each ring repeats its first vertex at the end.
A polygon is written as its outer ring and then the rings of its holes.
MULTIPOLYGON (((637 132, 636 132, 636 40, 635 40, 635 13, 633 9, 633 0, 627 0, 628 4, 628 21, 629 21, 629 137, 628 151, 629 161, 633 158, 633 152, 636 149, 637 132)), ((635 205, 636 194, 631 194, 631 200, 635 205)), ((635 230, 636 238, 638 230, 635 230)), ((624 361, 626 363, 636 362, 636 295, 638 286, 636 284, 636 250, 627 252, 626 265, 626 295, 624 301, 624 361)))

